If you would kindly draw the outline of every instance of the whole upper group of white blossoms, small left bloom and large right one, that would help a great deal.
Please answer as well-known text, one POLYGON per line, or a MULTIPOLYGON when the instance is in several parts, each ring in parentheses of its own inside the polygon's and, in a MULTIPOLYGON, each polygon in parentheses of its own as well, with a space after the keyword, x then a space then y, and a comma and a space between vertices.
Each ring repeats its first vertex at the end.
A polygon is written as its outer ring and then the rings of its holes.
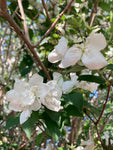
POLYGON ((48 55, 51 63, 61 60, 60 68, 66 68, 75 65, 79 60, 91 70, 101 69, 107 65, 107 61, 100 50, 106 47, 106 39, 102 33, 92 31, 86 38, 86 42, 73 45, 68 48, 68 41, 65 37, 59 40, 58 45, 48 55))

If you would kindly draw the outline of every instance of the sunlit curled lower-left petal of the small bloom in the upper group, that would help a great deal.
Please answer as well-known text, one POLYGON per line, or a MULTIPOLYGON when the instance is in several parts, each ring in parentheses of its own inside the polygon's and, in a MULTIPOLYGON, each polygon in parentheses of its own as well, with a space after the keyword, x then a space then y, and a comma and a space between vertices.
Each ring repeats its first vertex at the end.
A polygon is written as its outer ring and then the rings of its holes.
POLYGON ((48 55, 48 61, 51 63, 56 63, 62 59, 62 56, 56 52, 54 49, 51 53, 48 55))

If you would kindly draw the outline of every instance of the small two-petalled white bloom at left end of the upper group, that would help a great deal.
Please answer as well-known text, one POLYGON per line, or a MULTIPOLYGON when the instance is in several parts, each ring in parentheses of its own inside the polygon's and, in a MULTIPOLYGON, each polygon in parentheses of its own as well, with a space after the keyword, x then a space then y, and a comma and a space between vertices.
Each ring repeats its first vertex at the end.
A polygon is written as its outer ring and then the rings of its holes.
POLYGON ((68 50, 67 44, 68 44, 67 39, 65 37, 62 37, 59 40, 58 45, 55 46, 55 49, 51 53, 49 53, 48 60, 51 63, 56 63, 56 62, 62 60, 66 51, 68 50))

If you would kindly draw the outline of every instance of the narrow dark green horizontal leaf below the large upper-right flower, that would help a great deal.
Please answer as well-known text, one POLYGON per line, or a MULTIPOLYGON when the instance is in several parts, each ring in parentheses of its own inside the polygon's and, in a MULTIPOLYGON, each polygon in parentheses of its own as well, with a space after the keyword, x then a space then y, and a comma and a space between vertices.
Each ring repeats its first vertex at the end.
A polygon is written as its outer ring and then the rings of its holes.
POLYGON ((100 76, 94 76, 94 75, 81 75, 78 78, 79 81, 88 81, 88 82, 95 82, 95 83, 105 83, 105 80, 102 79, 100 76))

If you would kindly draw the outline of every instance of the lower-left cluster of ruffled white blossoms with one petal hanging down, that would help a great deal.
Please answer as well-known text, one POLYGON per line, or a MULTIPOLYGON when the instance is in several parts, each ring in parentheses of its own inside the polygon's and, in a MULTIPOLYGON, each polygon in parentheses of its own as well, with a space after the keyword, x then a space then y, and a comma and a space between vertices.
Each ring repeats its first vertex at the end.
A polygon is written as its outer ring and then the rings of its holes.
POLYGON ((39 110, 41 104, 50 110, 59 111, 62 108, 61 96, 62 91, 57 81, 51 80, 43 83, 43 77, 38 74, 34 74, 29 82, 17 80, 14 89, 6 93, 9 109, 22 112, 21 124, 30 117, 32 111, 39 110))

